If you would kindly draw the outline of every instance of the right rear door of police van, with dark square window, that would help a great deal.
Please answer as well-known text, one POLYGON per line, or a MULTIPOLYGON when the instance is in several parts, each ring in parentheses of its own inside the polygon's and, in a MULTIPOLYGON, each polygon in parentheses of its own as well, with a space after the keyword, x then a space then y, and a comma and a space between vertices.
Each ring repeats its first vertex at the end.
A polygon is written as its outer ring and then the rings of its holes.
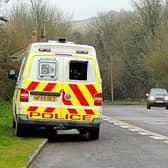
POLYGON ((99 118, 94 96, 100 91, 94 58, 64 58, 63 102, 61 113, 66 120, 90 122, 99 118))

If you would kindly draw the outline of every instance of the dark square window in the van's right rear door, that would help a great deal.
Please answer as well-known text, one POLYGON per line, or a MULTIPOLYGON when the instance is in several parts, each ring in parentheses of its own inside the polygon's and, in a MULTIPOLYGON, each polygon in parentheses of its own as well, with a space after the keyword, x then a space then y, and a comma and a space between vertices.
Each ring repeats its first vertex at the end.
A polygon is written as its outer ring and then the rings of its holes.
POLYGON ((69 79, 87 80, 88 61, 70 61, 69 79))

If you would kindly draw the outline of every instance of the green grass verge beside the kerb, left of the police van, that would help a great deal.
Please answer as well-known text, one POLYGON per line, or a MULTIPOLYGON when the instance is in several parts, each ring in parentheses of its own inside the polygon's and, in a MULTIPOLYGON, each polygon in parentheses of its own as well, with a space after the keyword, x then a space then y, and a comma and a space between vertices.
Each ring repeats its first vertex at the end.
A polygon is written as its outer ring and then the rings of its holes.
POLYGON ((22 168, 42 142, 41 138, 16 137, 11 116, 11 103, 0 102, 0 168, 22 168))

